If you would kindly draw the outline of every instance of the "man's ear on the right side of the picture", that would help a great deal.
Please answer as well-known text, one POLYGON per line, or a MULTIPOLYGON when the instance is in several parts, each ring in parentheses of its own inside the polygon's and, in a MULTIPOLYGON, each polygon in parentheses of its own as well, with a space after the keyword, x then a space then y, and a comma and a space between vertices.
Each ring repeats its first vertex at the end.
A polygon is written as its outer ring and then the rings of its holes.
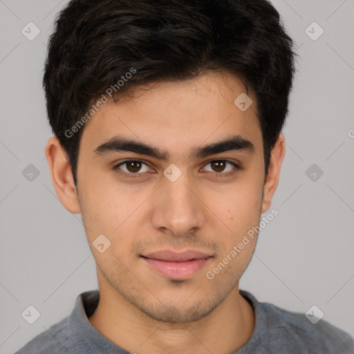
POLYGON ((282 133, 279 134, 278 140, 275 143, 272 152, 270 153, 270 164, 268 174, 263 185, 263 201, 261 214, 270 208, 272 197, 279 182, 281 164, 285 156, 285 137, 282 133))

